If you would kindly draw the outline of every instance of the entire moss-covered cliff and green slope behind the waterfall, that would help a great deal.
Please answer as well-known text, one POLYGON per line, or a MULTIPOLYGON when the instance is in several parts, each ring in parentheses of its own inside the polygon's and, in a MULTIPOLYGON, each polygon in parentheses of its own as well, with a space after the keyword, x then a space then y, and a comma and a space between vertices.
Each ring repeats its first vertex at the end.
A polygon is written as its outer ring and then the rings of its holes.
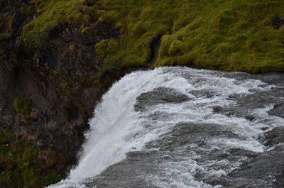
POLYGON ((127 72, 284 71, 280 0, 0 0, 0 18, 0 187, 64 177, 127 72))

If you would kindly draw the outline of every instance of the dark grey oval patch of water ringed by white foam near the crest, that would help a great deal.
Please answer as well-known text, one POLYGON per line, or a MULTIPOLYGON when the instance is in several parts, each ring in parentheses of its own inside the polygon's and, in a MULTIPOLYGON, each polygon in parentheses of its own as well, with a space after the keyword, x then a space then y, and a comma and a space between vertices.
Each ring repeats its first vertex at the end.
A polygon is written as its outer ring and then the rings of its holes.
POLYGON ((157 87, 151 92, 146 92, 137 97, 135 104, 136 111, 143 111, 149 106, 155 106, 157 104, 165 103, 181 103, 184 101, 189 101, 190 98, 181 94, 172 88, 157 87))

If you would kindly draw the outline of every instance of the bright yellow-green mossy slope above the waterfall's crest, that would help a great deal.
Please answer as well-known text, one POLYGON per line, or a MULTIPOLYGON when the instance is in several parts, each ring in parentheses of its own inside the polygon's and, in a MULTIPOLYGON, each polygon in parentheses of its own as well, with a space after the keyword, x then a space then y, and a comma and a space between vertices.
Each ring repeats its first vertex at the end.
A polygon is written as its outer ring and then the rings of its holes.
MULTIPOLYGON (((60 22, 87 22, 89 15, 80 13, 84 7, 81 0, 50 1, 25 27, 24 41, 40 43, 38 36, 60 22)), ((114 22, 122 33, 119 40, 97 44, 103 72, 147 66, 149 45, 157 35, 163 38, 153 67, 284 71, 284 27, 275 30, 271 22, 274 16, 284 18, 283 1, 99 0, 92 10, 100 20, 114 22)))

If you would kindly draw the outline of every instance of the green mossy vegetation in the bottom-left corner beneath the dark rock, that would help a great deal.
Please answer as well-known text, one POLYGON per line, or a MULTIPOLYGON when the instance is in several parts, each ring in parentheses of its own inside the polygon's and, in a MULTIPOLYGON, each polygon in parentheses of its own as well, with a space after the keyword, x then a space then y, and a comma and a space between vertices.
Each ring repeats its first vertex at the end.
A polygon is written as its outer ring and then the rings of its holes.
POLYGON ((40 169, 39 150, 24 138, 16 138, 8 129, 0 129, 0 184, 18 188, 46 187, 62 177, 53 170, 40 169))

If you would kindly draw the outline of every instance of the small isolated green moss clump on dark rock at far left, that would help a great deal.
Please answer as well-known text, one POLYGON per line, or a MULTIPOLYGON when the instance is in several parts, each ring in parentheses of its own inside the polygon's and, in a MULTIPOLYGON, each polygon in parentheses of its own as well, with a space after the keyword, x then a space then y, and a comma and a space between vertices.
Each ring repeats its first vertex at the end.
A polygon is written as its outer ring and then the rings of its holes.
POLYGON ((28 120, 31 114, 31 99, 17 97, 13 103, 13 107, 18 114, 23 115, 28 120))

